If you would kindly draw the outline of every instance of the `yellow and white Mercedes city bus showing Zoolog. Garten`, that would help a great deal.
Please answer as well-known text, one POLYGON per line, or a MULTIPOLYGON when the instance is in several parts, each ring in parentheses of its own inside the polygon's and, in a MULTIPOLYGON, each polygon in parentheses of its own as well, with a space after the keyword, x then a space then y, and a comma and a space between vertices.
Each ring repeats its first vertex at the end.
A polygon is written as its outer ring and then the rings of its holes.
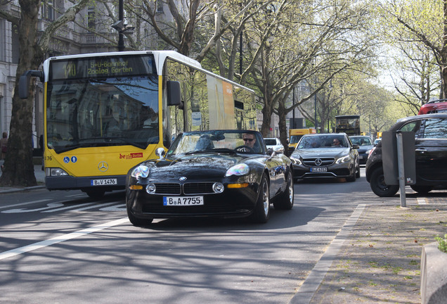
POLYGON ((124 189, 128 170, 155 158, 177 134, 256 129, 254 91, 175 51, 124 51, 51 57, 43 71, 44 169, 49 190, 91 197, 124 189))

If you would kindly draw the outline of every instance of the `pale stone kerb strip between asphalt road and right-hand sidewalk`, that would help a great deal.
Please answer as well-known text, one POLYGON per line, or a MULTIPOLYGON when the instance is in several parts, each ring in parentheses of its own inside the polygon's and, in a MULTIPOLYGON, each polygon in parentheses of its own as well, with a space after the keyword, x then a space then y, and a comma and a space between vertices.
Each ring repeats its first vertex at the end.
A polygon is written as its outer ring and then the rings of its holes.
POLYGON ((316 263, 311 273, 306 277, 306 280, 299 287, 297 293, 290 300, 289 304, 309 304, 312 300, 313 294, 317 291, 321 282, 329 271, 332 262, 337 258, 337 254, 342 248, 344 241, 349 238, 351 230, 356 226, 358 218, 360 218, 366 204, 359 204, 351 214, 349 219, 343 225, 342 230, 335 236, 335 239, 329 245, 328 250, 323 254, 320 260, 316 263))

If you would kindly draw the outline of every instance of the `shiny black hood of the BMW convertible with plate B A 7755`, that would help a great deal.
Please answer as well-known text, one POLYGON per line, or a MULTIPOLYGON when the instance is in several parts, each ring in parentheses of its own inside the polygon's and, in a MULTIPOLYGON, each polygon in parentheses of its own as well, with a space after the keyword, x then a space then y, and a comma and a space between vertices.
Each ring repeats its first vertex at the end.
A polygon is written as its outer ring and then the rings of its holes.
POLYGON ((188 156, 147 160, 142 165, 150 167, 150 179, 175 177, 223 177, 226 170, 247 157, 195 153, 188 156))

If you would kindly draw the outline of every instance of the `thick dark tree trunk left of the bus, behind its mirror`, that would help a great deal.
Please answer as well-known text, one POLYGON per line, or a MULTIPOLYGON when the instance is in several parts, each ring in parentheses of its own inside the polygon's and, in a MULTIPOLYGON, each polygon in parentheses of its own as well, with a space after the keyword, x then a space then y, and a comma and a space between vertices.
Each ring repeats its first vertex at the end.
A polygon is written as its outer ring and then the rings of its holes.
MULTIPOLYGON (((2 186, 35 186, 34 165, 32 163, 32 113, 34 86, 30 87, 28 99, 18 97, 18 80, 28 67, 37 68, 37 17, 40 0, 20 0, 21 20, 19 25, 20 55, 15 77, 13 108, 11 116, 8 153, 4 172, 0 177, 2 186)), ((34 80, 35 82, 35 80, 34 80)))

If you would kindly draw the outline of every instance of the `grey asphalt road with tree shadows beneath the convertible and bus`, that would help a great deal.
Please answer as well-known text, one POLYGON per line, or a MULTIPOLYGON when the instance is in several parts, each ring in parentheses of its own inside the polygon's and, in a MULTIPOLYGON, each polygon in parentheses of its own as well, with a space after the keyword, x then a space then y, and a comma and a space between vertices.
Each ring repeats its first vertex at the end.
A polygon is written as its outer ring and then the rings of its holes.
POLYGON ((358 204, 356 182, 295 184, 267 224, 155 220, 132 226, 124 192, 0 194, 4 303, 289 303, 358 204))

